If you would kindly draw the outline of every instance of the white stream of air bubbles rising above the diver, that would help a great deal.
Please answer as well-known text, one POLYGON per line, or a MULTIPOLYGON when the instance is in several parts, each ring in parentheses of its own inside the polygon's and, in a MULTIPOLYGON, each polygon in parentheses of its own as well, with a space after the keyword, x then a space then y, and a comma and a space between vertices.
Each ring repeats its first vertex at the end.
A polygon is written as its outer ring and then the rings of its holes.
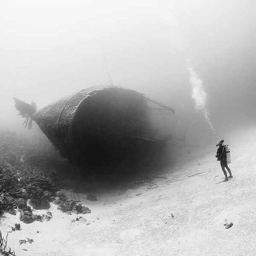
POLYGON ((195 73, 189 59, 187 59, 187 70, 189 72, 189 82, 192 87, 192 99, 195 101, 195 110, 203 113, 209 128, 214 135, 217 135, 210 119, 209 110, 207 109, 207 93, 204 90, 203 82, 197 73, 195 73))

